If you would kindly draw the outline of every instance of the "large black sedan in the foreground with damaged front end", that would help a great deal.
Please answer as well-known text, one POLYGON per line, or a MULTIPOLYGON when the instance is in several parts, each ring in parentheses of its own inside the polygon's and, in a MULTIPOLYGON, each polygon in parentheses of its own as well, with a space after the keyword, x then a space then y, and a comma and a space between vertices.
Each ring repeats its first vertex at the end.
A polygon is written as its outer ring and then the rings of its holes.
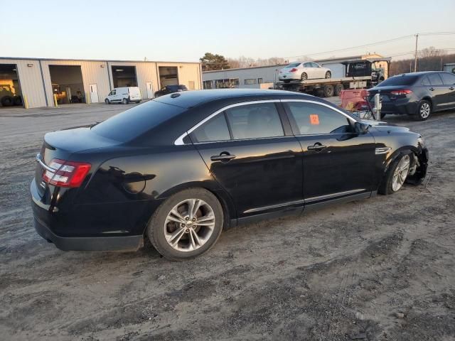
POLYGON ((46 134, 34 223, 67 251, 136 250, 148 237, 166 258, 189 259, 223 227, 419 183, 427 158, 419 134, 306 94, 181 92, 46 134))

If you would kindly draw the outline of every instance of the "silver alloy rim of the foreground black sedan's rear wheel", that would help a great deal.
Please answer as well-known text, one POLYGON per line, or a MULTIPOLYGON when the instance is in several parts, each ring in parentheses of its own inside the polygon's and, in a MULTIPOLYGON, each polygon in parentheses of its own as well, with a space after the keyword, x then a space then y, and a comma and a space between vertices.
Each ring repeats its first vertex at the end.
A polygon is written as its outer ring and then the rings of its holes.
POLYGON ((207 202, 187 199, 179 202, 164 221, 166 242, 178 251, 194 251, 202 247, 215 229, 215 213, 207 202))

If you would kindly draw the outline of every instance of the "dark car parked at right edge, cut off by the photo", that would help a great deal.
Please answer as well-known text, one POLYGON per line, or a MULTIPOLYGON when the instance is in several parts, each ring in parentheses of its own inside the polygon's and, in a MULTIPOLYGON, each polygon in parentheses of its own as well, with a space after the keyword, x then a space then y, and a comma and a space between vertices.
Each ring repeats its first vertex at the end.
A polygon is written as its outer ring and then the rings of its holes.
POLYGON ((368 90, 369 101, 380 94, 381 117, 408 114, 424 121, 432 112, 455 109, 455 75, 449 72, 412 72, 390 77, 368 90))

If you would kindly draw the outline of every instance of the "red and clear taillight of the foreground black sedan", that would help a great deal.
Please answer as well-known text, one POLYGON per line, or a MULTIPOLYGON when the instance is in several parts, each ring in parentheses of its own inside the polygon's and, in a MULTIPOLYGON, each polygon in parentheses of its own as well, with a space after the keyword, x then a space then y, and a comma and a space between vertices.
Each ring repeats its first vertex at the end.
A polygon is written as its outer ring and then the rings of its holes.
POLYGON ((59 187, 79 187, 92 165, 54 158, 48 166, 55 171, 45 170, 43 180, 46 183, 59 187))

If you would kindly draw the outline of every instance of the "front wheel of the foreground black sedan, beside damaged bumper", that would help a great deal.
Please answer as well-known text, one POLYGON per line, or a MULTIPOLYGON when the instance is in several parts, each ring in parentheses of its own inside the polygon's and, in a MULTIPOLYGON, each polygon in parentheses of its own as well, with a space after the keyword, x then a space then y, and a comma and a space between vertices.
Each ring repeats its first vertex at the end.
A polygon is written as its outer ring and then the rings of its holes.
POLYGON ((402 153, 401 156, 395 158, 390 165, 387 173, 385 173, 382 183, 379 186, 378 193, 383 195, 390 195, 400 190, 406 182, 407 175, 410 173, 411 166, 411 152, 402 153), (407 165, 407 168, 405 166, 407 165), (402 168, 402 171, 397 169, 402 168), (395 172, 397 171, 397 172, 395 172), (398 175, 398 176, 396 176, 398 175), (395 183, 395 179, 397 182, 395 183))

